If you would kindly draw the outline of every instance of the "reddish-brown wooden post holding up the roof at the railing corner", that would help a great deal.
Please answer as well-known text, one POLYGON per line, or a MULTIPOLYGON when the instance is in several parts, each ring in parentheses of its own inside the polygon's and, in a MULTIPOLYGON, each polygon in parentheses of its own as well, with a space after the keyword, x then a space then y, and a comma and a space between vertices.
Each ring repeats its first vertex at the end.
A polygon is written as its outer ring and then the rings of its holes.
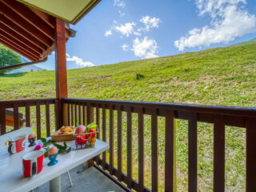
POLYGON ((56 75, 56 97, 58 98, 58 127, 67 125, 67 108, 64 107, 62 98, 67 98, 66 81, 66 37, 65 22, 56 18, 55 20, 55 75, 56 75))

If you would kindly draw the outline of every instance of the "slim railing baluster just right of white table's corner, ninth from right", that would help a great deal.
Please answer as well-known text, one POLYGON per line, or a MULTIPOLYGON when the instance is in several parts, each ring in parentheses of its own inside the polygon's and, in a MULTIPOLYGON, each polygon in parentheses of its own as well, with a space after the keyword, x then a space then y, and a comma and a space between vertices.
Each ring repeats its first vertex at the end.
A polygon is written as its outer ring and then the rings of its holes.
POLYGON ((110 174, 114 173, 114 115, 113 106, 110 105, 110 174))

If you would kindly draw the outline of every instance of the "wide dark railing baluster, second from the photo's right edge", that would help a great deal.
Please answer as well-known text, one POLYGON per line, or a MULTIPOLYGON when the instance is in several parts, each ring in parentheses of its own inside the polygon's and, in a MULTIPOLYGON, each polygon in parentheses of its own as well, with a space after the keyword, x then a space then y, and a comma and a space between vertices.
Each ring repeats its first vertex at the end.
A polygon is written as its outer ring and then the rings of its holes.
POLYGON ((214 117, 214 192, 225 191, 225 118, 214 117))

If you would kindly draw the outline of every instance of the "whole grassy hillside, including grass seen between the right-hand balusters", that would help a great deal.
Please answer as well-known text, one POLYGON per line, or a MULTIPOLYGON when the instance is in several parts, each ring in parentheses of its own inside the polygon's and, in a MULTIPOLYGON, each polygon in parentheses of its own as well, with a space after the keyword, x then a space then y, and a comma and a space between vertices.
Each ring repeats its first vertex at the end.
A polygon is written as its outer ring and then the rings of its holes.
MULTIPOLYGON (((70 98, 256 106, 256 45, 230 46, 68 71, 70 98)), ((54 71, 0 77, 0 98, 54 97, 54 71)), ((150 125, 150 121, 146 120, 150 125)), ((150 126, 146 124, 146 129, 150 126)), ((159 123, 159 129, 164 129, 159 123)), ((125 129, 125 126, 124 126, 125 129)), ((135 128, 136 129, 136 128, 135 128)), ((124 130, 125 131, 125 130, 124 130)), ((137 133, 137 132, 136 132, 137 133)), ((146 130, 146 161, 150 161, 146 130)), ((160 183, 163 135, 160 135, 160 183)), ((177 122, 178 190, 187 189, 187 122, 177 122)), ((125 141, 124 141, 125 142, 125 141)), ((136 144, 136 143, 135 143, 136 144)), ((136 146, 134 146, 134 149, 136 146)), ((245 191, 245 130, 226 127, 226 190, 245 191)), ((136 162, 136 151, 134 150, 136 162)), ((198 123, 198 185, 213 189, 213 126, 198 123)), ((134 166, 136 170, 137 166, 134 166)), ((150 170, 146 175, 150 177, 150 170)), ((134 177, 138 177, 134 171, 134 177)), ((146 186, 150 183, 146 181, 146 186)))

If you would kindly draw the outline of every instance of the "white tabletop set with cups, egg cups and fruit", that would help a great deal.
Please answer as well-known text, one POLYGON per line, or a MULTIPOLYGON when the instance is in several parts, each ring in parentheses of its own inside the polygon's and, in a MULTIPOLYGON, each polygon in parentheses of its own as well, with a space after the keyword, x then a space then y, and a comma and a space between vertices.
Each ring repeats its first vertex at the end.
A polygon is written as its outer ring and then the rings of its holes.
MULTIPOLYGON (((74 141, 73 141, 74 142, 74 141)), ((62 143, 62 142, 59 142, 62 143)), ((66 142, 68 146, 72 145, 66 142), (70 144, 70 145, 69 145, 70 144)), ((73 145, 72 145, 73 146, 73 145)), ((109 148, 106 142, 98 140, 95 146, 83 150, 71 150, 68 154, 58 154, 58 163, 55 166, 47 166, 49 159, 43 159, 41 173, 31 178, 24 178, 22 173, 22 156, 34 147, 26 147, 17 154, 10 155, 7 150, 0 150, 0 191, 29 191, 41 186, 45 182, 58 177, 68 170, 94 158, 109 148)))

